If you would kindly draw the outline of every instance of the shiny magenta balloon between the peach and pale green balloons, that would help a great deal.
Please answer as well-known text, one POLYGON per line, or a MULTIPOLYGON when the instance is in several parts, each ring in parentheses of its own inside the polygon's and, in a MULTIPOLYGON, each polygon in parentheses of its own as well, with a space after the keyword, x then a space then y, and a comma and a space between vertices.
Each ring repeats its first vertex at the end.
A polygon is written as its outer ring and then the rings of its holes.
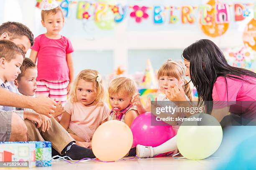
POLYGON ((131 131, 134 146, 140 144, 156 147, 174 137, 175 132, 172 126, 164 122, 161 122, 161 125, 153 126, 151 125, 151 119, 155 119, 155 116, 146 112, 133 120, 131 131))

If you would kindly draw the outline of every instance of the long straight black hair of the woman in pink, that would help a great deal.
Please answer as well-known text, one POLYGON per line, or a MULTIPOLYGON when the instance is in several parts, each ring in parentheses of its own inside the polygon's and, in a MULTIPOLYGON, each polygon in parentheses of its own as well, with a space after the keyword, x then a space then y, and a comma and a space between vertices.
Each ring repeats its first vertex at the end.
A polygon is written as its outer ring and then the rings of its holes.
POLYGON ((256 77, 255 72, 229 65, 223 52, 211 40, 202 39, 189 45, 182 56, 190 62, 190 78, 197 88, 198 105, 205 102, 208 114, 212 111, 212 102, 207 101, 212 101, 212 88, 217 77, 225 77, 226 84, 226 77, 246 82, 249 81, 244 76, 256 77))

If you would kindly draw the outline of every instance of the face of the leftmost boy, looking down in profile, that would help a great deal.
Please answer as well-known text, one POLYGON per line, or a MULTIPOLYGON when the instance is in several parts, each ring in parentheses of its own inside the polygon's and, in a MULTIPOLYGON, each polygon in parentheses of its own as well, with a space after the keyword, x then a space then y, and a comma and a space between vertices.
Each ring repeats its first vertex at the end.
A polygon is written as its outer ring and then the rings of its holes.
POLYGON ((16 57, 9 62, 6 61, 4 58, 0 59, 0 65, 3 68, 3 71, 1 72, 4 82, 14 81, 20 74, 20 66, 23 62, 23 56, 18 54, 15 55, 16 57))

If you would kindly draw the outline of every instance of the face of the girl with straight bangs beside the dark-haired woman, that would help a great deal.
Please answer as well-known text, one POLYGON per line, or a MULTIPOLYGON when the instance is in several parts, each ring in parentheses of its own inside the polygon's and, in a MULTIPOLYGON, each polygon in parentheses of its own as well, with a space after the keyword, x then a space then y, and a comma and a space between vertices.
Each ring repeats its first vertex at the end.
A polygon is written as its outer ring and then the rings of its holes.
MULTIPOLYGON (((160 76, 159 77, 159 88, 164 87, 165 90, 168 90, 169 87, 174 87, 175 84, 181 86, 183 83, 182 80, 178 80, 175 77, 168 77, 168 76, 160 76)), ((161 90, 164 93, 164 91, 161 90)))

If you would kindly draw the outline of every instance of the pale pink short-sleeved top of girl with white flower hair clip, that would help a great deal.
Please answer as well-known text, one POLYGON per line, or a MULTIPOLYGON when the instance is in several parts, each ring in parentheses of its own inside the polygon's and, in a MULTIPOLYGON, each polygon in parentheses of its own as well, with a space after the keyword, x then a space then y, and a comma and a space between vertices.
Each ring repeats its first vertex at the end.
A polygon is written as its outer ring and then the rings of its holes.
POLYGON ((87 107, 80 102, 72 103, 70 99, 64 103, 64 109, 71 115, 69 128, 85 142, 90 142, 95 130, 110 114, 106 103, 87 107))

